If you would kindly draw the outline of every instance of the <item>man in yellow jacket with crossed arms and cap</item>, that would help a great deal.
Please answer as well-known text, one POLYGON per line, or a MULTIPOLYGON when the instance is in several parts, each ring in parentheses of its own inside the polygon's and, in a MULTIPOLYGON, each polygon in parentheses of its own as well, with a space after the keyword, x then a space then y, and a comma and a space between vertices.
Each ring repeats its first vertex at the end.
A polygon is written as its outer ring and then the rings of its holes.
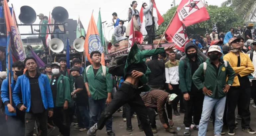
POLYGON ((235 71, 235 78, 233 84, 230 87, 230 91, 227 93, 227 124, 228 135, 234 135, 235 131, 235 108, 237 101, 241 101, 241 117, 242 117, 242 130, 256 134, 254 130, 250 128, 250 81, 247 75, 254 72, 253 64, 247 54, 240 52, 242 50, 240 44, 241 38, 233 37, 229 39, 230 52, 227 53, 223 59, 229 61, 233 70, 235 71))

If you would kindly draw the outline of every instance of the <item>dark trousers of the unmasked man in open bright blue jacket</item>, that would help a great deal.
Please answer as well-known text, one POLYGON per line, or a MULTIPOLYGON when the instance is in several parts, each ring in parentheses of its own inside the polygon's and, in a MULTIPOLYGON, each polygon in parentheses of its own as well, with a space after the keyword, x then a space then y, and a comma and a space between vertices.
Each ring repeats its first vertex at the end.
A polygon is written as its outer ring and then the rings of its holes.
POLYGON ((48 110, 45 110, 42 113, 32 113, 32 112, 25 112, 25 136, 33 136, 35 121, 36 119, 40 123, 40 130, 42 131, 41 136, 48 135, 47 129, 47 117, 48 117, 48 110))

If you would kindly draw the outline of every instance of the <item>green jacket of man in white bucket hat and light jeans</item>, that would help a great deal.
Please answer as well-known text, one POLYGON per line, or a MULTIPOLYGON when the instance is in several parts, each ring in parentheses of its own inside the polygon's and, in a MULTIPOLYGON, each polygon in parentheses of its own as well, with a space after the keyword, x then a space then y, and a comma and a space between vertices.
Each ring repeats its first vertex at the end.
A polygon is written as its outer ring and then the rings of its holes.
POLYGON ((223 60, 219 59, 219 61, 218 75, 213 67, 214 64, 211 64, 210 60, 205 61, 207 66, 205 70, 204 84, 201 80, 201 77, 204 75, 203 64, 200 64, 192 77, 194 85, 199 90, 206 87, 208 90, 212 91, 212 95, 208 96, 211 98, 222 98, 226 96, 227 93, 223 92, 223 88, 225 88, 226 84, 232 85, 235 77, 235 72, 229 65, 229 62, 227 61, 227 67, 225 67, 223 60), (226 76, 228 77, 227 82, 226 76))

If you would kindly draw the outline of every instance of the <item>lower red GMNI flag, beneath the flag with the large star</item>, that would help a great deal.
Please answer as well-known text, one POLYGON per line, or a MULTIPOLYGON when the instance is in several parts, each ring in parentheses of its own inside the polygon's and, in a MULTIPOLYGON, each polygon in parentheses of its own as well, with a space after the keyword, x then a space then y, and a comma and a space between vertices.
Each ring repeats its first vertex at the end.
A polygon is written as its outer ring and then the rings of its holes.
POLYGON ((176 13, 169 28, 166 30, 165 39, 168 42, 174 42, 179 48, 182 48, 185 43, 189 42, 186 28, 180 21, 178 13, 176 13))

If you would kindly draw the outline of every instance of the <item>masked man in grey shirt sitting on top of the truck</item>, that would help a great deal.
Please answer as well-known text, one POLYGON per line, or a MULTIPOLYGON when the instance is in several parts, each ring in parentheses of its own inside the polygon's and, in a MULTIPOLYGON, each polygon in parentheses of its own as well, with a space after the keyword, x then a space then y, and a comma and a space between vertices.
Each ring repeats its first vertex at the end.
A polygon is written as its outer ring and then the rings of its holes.
POLYGON ((126 27, 124 26, 124 21, 120 20, 118 26, 115 27, 115 31, 114 31, 114 35, 116 36, 117 42, 126 39, 126 37, 124 37, 125 32, 126 32, 126 27))

